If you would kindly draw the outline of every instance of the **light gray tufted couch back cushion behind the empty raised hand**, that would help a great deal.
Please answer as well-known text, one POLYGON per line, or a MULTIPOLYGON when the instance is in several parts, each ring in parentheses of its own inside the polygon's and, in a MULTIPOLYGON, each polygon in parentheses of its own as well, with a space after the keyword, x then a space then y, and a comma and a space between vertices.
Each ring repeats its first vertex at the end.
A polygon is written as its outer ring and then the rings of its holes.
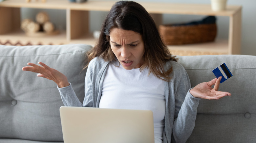
POLYGON ((39 61, 65 74, 82 102, 89 45, 0 46, 0 138, 63 141, 57 85, 22 71, 39 61))

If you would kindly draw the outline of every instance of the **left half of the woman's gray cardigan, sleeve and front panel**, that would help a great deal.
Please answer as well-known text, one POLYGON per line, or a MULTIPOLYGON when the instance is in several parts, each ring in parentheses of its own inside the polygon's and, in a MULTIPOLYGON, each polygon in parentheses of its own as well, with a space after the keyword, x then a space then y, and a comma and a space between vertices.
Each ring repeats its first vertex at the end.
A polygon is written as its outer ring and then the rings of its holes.
POLYGON ((102 58, 95 57, 88 65, 85 84, 84 84, 84 101, 81 103, 72 86, 58 88, 61 99, 65 106, 78 106, 78 107, 97 107, 101 95, 100 87, 106 73, 106 67, 109 62, 105 62, 102 58))

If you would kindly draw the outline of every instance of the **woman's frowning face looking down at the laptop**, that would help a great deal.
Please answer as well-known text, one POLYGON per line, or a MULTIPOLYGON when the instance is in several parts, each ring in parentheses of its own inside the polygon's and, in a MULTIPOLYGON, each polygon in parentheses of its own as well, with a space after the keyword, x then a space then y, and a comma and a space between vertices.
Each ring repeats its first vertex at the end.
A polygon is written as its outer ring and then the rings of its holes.
POLYGON ((140 68, 144 63, 142 36, 131 30, 110 30, 110 46, 118 61, 126 70, 140 68))

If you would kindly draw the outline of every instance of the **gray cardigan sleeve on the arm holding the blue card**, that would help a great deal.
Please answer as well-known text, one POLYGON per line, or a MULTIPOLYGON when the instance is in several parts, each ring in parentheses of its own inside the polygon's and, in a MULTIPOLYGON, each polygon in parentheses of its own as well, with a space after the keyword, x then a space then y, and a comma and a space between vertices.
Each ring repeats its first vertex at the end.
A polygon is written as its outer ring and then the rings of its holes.
POLYGON ((177 75, 174 76, 175 114, 171 140, 185 143, 194 129, 200 98, 190 94, 190 80, 185 69, 179 70, 177 75))

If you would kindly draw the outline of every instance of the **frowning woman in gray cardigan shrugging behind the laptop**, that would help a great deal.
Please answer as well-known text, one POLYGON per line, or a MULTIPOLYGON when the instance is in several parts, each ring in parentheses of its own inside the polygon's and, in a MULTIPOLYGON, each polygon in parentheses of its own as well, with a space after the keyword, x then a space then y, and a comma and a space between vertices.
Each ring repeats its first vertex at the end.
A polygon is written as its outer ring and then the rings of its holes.
POLYGON ((185 142, 194 128, 199 100, 231 95, 218 91, 221 77, 190 88, 186 71, 162 42, 149 13, 136 2, 113 5, 88 58, 83 103, 59 71, 41 62, 42 67, 28 63, 32 67, 23 70, 53 80, 65 106, 152 110, 155 143, 185 142))

